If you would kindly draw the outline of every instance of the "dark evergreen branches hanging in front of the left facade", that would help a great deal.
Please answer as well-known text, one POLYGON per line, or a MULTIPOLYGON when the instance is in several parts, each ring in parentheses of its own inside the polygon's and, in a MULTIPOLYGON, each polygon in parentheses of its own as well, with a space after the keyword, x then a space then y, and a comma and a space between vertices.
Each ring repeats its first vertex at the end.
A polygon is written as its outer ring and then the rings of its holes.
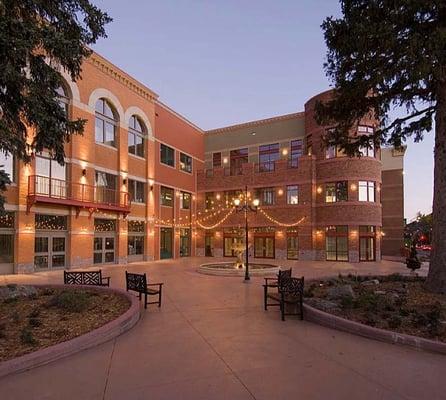
MULTIPOLYGON (((28 163, 47 149, 63 164, 65 142, 86 121, 71 120, 58 102, 61 70, 77 80, 87 46, 106 37, 110 21, 88 0, 0 0, 1 152, 28 163)), ((2 167, 0 195, 9 183, 2 167)))

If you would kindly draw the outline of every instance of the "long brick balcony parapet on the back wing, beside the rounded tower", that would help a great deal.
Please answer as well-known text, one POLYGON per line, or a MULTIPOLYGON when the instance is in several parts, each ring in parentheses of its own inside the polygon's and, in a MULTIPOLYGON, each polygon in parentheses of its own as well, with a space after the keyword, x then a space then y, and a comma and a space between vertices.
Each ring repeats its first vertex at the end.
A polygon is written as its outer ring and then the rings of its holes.
POLYGON ((198 171, 198 190, 227 190, 248 186, 268 186, 271 182, 286 184, 312 178, 315 168, 311 156, 264 163, 244 163, 237 168, 220 167, 198 171))

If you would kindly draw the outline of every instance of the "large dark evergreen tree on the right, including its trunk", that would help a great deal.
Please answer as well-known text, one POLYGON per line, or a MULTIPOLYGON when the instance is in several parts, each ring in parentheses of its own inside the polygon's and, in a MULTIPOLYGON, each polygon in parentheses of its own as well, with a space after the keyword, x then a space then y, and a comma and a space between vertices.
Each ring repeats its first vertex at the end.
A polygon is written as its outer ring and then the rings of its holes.
POLYGON ((319 123, 336 124, 327 144, 348 155, 360 146, 402 146, 433 129, 433 251, 427 287, 446 292, 446 2, 444 0, 343 0, 342 18, 322 28, 328 47, 324 68, 333 98, 316 105, 319 123), (404 109, 405 116, 391 112, 404 109), (369 114, 372 113, 372 114, 369 114), (349 132, 373 115, 373 136, 349 132))

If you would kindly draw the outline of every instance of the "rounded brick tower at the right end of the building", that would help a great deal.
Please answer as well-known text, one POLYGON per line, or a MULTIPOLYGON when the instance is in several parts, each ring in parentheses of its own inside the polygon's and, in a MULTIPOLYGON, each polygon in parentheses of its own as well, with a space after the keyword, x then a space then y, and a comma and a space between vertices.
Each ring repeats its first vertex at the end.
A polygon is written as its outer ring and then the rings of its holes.
MULTIPOLYGON (((305 104, 307 152, 316 165, 312 218, 315 258, 377 261, 382 236, 380 149, 364 148, 361 157, 348 157, 340 148, 325 145, 324 136, 333 126, 317 123, 315 105, 332 95, 333 91, 325 91, 305 104)), ((377 124, 376 119, 364 117, 351 135, 371 135, 377 124)))

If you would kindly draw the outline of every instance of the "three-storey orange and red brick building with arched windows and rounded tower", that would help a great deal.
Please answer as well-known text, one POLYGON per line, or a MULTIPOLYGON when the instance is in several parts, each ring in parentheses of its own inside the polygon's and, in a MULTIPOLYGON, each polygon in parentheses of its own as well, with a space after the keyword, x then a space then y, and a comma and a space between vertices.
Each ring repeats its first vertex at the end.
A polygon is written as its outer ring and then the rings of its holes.
MULTIPOLYGON (((0 216, 0 273, 231 256, 243 234, 232 201, 245 186, 261 202, 250 216, 256 257, 399 253, 403 154, 350 159, 323 149, 313 106, 327 93, 301 113, 204 132, 96 53, 81 80, 65 78, 61 105, 87 120, 66 144, 65 166, 45 152, 30 165, 0 155, 13 181, 0 216)), ((373 126, 361 121, 358 132, 373 126)))

